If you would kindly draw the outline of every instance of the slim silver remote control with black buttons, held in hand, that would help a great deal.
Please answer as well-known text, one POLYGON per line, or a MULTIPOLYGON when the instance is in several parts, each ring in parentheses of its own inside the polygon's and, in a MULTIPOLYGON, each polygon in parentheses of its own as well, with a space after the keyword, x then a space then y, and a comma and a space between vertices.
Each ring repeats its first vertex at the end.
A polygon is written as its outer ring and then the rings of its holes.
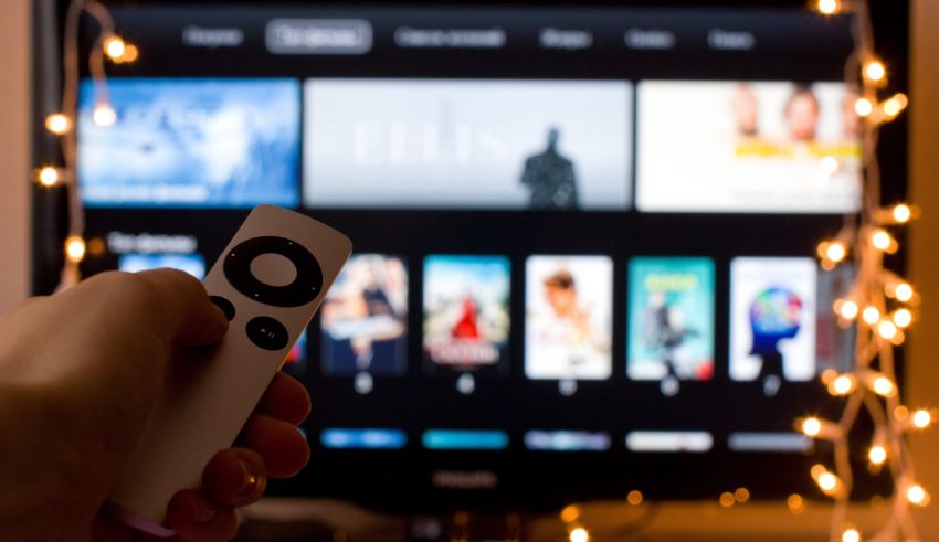
POLYGON ((203 280, 229 331, 209 359, 171 368, 108 496, 113 516, 173 534, 165 527, 170 498, 200 487, 209 460, 232 445, 351 251, 348 237, 294 211, 249 214, 203 280))

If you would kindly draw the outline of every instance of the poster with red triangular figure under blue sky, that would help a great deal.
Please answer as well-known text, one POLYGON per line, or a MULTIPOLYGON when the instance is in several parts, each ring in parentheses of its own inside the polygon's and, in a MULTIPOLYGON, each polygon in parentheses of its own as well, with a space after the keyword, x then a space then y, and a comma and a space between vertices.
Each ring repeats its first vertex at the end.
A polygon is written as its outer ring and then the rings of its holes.
POLYGON ((424 259, 424 360, 429 371, 508 369, 510 264, 503 256, 424 259))

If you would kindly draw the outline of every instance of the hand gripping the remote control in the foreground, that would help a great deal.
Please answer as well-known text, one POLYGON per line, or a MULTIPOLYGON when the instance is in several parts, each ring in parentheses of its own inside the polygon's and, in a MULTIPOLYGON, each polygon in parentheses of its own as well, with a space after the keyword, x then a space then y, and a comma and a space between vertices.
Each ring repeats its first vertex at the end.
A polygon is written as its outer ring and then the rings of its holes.
MULTIPOLYGON (((131 540, 101 516, 170 363, 228 329, 202 285, 179 272, 105 273, 0 316, 0 524, 11 540, 131 540)), ((202 488, 167 513, 180 540, 228 540, 234 509, 267 476, 296 474, 309 447, 296 431, 309 396, 278 374, 236 445, 205 467, 202 488)), ((136 538, 134 540, 140 540, 136 538)), ((146 539, 144 539, 146 540, 146 539)))

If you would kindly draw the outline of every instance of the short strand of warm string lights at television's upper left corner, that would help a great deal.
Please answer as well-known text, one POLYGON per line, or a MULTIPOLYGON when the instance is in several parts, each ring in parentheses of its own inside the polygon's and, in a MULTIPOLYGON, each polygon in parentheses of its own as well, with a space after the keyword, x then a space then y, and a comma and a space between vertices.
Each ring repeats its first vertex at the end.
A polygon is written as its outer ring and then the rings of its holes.
POLYGON ((139 51, 125 42, 115 32, 114 20, 107 9, 96 0, 73 0, 65 13, 65 33, 62 42, 63 89, 62 104, 57 111, 45 117, 45 129, 61 138, 62 166, 44 166, 36 171, 35 182, 46 189, 64 188, 68 198, 68 234, 64 244, 64 262, 59 288, 65 289, 81 278, 78 264, 86 254, 84 209, 81 188, 75 174, 77 147, 75 126, 77 125, 77 103, 80 83, 78 29, 82 17, 89 15, 98 26, 98 35, 92 47, 87 66, 94 86, 95 107, 92 120, 95 125, 107 127, 117 121, 117 113, 110 106, 105 76, 105 61, 115 64, 130 63, 137 60, 139 51))

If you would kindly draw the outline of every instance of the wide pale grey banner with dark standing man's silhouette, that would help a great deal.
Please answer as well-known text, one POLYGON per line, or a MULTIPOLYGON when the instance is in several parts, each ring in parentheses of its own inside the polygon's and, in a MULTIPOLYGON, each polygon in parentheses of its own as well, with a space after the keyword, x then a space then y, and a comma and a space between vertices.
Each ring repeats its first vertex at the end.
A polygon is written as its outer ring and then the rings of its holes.
POLYGON ((309 79, 309 208, 626 210, 625 81, 309 79))

